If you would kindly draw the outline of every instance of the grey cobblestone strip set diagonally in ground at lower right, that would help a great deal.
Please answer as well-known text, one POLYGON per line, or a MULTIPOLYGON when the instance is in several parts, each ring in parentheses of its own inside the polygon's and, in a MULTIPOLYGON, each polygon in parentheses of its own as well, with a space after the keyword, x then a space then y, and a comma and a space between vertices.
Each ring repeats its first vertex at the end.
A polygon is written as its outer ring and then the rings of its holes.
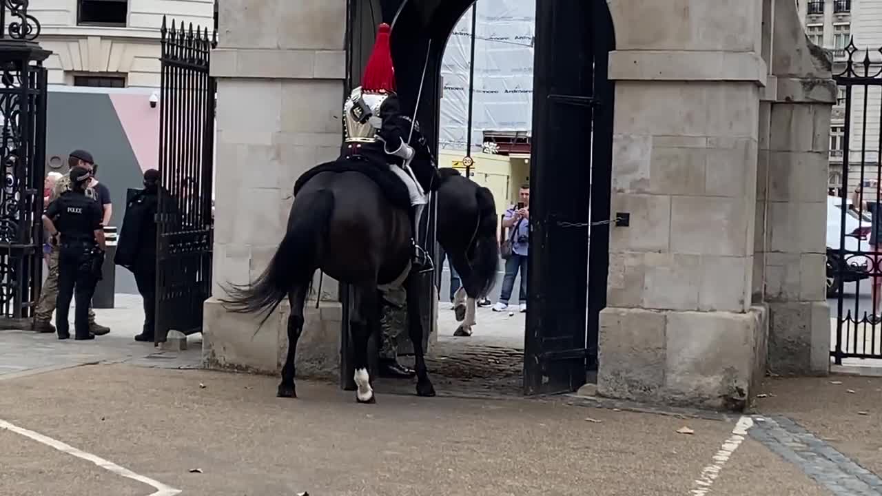
POLYGON ((788 417, 753 417, 751 438, 795 464, 836 496, 882 495, 882 479, 788 417))

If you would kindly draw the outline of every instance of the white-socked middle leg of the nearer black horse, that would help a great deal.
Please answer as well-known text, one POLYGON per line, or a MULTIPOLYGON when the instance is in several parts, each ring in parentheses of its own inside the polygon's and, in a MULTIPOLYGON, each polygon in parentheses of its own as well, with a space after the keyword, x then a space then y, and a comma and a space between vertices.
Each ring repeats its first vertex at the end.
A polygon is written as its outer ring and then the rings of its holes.
POLYGON ((368 373, 368 340, 370 323, 375 321, 379 301, 377 285, 360 285, 353 290, 352 310, 349 313, 349 332, 352 334, 353 364, 355 365, 355 400, 360 403, 375 403, 374 389, 370 387, 368 373))

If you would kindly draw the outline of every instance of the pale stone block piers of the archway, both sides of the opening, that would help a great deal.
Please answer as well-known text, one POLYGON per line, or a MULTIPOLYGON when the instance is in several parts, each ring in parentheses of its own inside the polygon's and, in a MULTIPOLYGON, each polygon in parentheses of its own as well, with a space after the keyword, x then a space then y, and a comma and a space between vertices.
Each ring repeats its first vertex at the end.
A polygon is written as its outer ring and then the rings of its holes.
MULTIPOLYGON (((767 336, 772 364, 826 372, 823 228, 809 221, 826 188, 805 189, 796 168, 811 163, 812 181, 823 169, 826 150, 815 144, 827 139, 808 137, 826 136, 835 91, 796 6, 607 4, 617 26, 608 64, 616 82, 610 213, 630 222, 610 230, 599 392, 737 409, 765 372, 767 336)), ((263 270, 290 201, 279 184, 338 152, 340 101, 358 65, 344 42, 347 7, 220 4, 214 281, 244 283, 263 270)), ((432 13, 414 9, 402 15, 432 13)), ((396 47, 396 56, 407 49, 423 59, 424 46, 396 47)), ((412 81, 400 84, 413 91, 412 81)), ((826 171, 817 176, 826 183, 826 171)), ((214 297, 220 291, 215 285, 214 297)), ((340 304, 319 306, 308 315, 298 372, 335 375, 340 304)), ((252 341, 243 328, 254 319, 209 300, 208 364, 277 372, 285 312, 252 341)))

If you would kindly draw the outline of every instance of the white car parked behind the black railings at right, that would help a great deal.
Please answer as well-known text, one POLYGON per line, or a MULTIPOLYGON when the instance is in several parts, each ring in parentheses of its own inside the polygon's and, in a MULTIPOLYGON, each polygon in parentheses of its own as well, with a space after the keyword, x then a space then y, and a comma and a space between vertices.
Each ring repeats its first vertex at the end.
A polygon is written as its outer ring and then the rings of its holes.
POLYGON ((851 207, 851 200, 827 197, 826 232, 826 294, 833 297, 841 282, 862 281, 870 276, 871 215, 858 213, 851 207), (845 208, 845 242, 842 242, 842 208, 845 208))

